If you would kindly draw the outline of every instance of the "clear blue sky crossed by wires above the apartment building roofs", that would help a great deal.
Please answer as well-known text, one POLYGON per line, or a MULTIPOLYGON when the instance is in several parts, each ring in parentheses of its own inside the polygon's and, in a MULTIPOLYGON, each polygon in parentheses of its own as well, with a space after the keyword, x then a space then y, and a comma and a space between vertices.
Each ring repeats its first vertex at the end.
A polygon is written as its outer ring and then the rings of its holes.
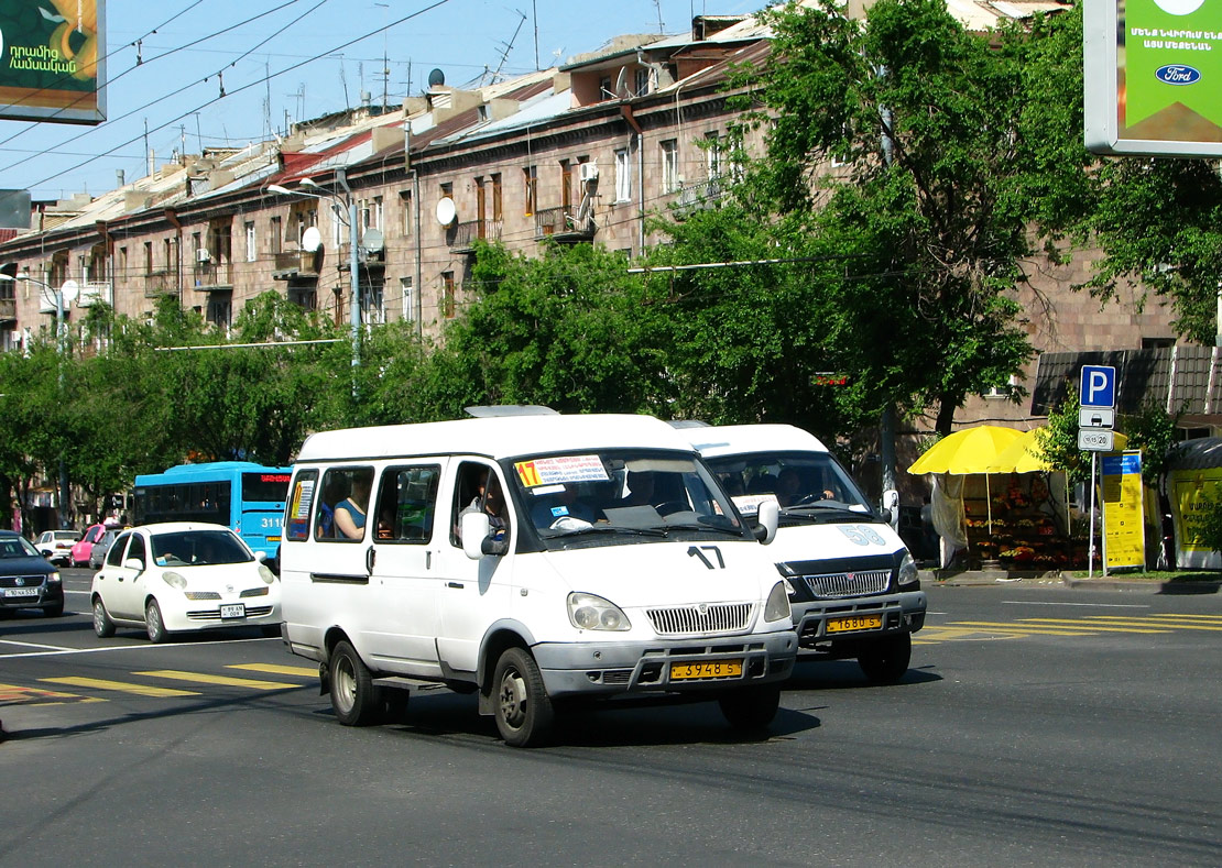
POLYGON ((198 154, 200 144, 244 145, 282 132, 290 120, 359 105, 362 92, 381 103, 385 88, 387 103, 398 104, 408 81, 418 94, 433 68, 445 72, 447 84, 469 87, 481 77, 488 83, 497 68, 529 72, 536 56, 546 68, 613 35, 687 32, 693 13, 743 13, 761 5, 109 0, 108 121, 98 127, 0 121, 0 188, 29 189, 34 199, 98 195, 117 186, 120 170, 127 181, 145 175, 148 149, 160 166, 183 146, 198 154))

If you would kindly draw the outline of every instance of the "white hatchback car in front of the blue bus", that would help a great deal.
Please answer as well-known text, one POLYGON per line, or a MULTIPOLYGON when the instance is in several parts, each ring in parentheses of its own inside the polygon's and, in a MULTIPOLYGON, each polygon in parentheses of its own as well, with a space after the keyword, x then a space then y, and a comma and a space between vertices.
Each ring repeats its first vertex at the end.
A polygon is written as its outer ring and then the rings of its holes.
POLYGON ((152 642, 209 627, 280 634, 280 580, 224 525, 175 521, 123 531, 89 591, 93 629, 143 626, 152 642))

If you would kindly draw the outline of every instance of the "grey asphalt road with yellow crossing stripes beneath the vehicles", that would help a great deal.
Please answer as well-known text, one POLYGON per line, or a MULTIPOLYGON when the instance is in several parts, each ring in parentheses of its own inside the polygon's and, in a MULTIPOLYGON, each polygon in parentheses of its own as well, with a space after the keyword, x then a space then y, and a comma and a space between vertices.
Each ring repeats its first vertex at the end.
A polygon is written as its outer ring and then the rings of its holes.
POLYGON ((712 703, 505 747, 474 697, 340 726, 253 631, 0 621, 0 866, 1222 864, 1222 596, 931 588, 913 669, 802 664, 767 737, 712 703), (133 692, 137 691, 137 692, 133 692))

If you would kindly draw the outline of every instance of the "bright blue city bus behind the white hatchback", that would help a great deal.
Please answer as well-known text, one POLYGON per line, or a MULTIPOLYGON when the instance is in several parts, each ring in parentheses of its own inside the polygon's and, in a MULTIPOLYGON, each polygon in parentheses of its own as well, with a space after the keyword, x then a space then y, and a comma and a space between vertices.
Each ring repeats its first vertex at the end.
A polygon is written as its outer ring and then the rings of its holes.
POLYGON ((291 475, 291 468, 264 468, 252 461, 180 464, 164 474, 142 474, 136 477, 133 518, 141 525, 226 525, 252 552, 263 552, 274 562, 291 475))

